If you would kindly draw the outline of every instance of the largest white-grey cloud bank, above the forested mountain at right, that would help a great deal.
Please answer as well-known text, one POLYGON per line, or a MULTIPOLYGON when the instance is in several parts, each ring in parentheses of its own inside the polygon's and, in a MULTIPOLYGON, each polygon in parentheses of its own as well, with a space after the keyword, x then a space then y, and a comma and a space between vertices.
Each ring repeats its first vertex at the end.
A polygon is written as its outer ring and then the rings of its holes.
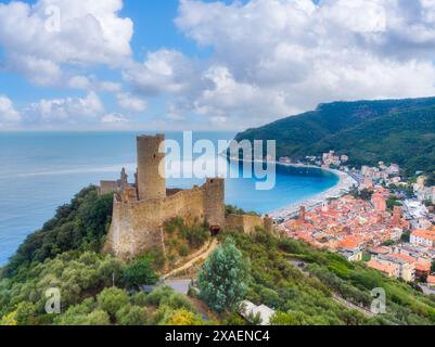
POLYGON ((178 75, 180 104, 215 120, 251 126, 321 102, 435 94, 433 0, 181 0, 176 24, 213 51, 200 74, 178 75))

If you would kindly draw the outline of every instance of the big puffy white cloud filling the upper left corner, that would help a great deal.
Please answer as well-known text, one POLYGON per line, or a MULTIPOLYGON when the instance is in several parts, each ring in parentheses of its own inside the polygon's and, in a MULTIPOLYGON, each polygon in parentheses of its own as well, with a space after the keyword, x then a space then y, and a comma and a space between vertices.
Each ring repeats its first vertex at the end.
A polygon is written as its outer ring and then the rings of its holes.
POLYGON ((71 66, 119 66, 131 54, 133 34, 132 22, 118 16, 121 8, 123 0, 0 4, 7 66, 40 85, 60 83, 71 66))

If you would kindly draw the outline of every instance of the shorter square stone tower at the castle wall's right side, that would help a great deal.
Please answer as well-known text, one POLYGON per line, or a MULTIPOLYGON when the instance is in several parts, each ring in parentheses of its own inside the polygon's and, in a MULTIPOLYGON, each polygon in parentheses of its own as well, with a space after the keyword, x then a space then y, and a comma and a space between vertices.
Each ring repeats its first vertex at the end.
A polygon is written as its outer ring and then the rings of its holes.
POLYGON ((225 180, 207 179, 205 183, 205 219, 212 228, 225 224, 225 180))

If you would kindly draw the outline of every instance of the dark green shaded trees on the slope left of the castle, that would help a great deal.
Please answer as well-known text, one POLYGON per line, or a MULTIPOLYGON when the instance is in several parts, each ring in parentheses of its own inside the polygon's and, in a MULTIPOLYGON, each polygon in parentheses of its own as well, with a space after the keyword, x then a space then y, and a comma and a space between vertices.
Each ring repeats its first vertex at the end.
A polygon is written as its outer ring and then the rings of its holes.
POLYGON ((84 189, 71 204, 57 208, 42 230, 27 236, 4 269, 5 277, 20 267, 43 262, 69 250, 100 252, 112 218, 113 198, 99 196, 94 187, 84 189))

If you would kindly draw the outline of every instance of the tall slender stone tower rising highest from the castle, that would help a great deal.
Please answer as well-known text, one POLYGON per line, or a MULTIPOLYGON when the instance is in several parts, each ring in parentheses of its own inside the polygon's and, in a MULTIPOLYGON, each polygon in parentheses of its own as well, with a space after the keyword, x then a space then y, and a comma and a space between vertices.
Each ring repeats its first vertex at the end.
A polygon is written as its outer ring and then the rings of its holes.
POLYGON ((139 200, 164 198, 166 197, 165 153, 159 153, 158 149, 165 141, 165 136, 141 136, 137 141, 139 200))

